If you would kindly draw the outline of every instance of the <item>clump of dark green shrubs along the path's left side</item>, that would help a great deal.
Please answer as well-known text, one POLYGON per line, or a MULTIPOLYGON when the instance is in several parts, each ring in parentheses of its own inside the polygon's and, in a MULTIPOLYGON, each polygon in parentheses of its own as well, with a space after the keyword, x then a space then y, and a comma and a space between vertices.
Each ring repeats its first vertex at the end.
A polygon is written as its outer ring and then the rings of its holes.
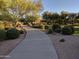
POLYGON ((23 34, 24 31, 17 30, 15 28, 11 28, 6 30, 0 30, 0 40, 10 40, 10 39, 16 39, 20 36, 20 34, 23 34))

